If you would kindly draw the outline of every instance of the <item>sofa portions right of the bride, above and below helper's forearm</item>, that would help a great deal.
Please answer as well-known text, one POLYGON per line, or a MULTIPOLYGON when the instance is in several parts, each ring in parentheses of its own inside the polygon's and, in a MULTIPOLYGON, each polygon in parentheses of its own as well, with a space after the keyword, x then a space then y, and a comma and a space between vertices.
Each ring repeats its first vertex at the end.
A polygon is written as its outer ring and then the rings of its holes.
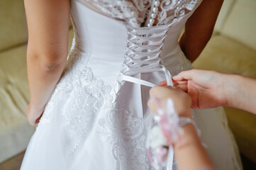
MULTIPOLYGON (((215 32, 193 65, 256 79, 255 0, 224 0, 215 32)), ((256 115, 235 108, 225 111, 240 152, 256 162, 256 115)))

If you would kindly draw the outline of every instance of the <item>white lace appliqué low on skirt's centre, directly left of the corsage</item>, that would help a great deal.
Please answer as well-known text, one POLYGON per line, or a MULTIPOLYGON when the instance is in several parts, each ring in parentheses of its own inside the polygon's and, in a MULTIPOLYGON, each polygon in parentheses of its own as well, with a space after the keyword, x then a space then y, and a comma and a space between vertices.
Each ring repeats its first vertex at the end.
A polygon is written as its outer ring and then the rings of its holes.
POLYGON ((152 169, 146 154, 146 121, 123 109, 114 109, 99 120, 101 140, 110 141, 116 169, 152 169))

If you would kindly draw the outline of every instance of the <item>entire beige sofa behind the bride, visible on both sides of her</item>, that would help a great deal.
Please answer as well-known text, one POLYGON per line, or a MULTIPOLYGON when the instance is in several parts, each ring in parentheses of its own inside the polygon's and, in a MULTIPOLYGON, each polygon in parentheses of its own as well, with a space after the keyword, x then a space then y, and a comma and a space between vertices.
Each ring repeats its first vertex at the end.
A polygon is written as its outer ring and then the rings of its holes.
MULTIPOLYGON (((256 78, 255 0, 225 0, 213 38, 194 67, 256 78)), ((34 128, 26 120, 28 33, 23 1, 0 1, 0 162, 26 149, 34 128)), ((72 40, 72 30, 69 32, 72 40)), ((256 118, 225 108, 241 152, 256 162, 256 118)))

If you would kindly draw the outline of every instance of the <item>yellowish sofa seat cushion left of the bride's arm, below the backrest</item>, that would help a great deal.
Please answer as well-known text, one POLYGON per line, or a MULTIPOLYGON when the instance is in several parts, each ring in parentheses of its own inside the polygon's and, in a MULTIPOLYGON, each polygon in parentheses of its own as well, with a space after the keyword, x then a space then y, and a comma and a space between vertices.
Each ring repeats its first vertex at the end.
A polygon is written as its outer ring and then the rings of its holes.
POLYGON ((26 119, 26 45, 0 52, 0 162, 22 152, 34 128, 26 119))

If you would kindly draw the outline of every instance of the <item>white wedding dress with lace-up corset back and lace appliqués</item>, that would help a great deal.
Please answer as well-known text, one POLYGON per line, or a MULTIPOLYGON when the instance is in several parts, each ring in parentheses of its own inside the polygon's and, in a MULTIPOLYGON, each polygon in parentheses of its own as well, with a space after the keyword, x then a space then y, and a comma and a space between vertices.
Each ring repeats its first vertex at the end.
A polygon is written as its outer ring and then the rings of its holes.
MULTIPOLYGON (((157 10, 152 0, 71 0, 67 67, 21 169, 152 169, 145 150, 149 86, 192 68, 177 39, 200 3, 162 0, 157 10), (157 25, 148 27, 154 12, 157 25)), ((225 114, 194 111, 194 120, 216 169, 242 169, 225 114)))

